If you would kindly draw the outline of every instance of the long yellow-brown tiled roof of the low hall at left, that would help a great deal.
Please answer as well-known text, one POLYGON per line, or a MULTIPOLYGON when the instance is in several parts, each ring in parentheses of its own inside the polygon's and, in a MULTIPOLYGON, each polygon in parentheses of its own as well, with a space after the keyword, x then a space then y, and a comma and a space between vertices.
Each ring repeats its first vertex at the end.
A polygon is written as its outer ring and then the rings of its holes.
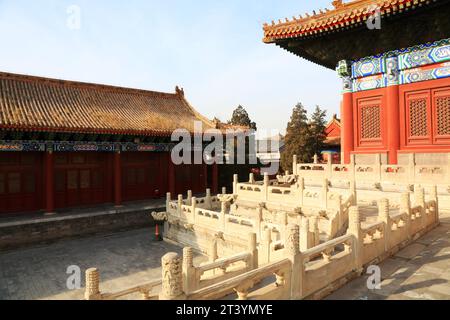
POLYGON ((214 128, 183 89, 162 93, 0 72, 0 129, 170 136, 214 128))

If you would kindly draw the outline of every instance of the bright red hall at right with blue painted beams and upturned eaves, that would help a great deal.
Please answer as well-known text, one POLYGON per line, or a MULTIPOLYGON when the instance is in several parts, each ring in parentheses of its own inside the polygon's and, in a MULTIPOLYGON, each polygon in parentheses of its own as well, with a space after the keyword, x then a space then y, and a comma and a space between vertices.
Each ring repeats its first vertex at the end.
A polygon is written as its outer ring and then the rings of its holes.
MULTIPOLYGON (((342 155, 450 152, 450 1, 333 1, 331 10, 264 26, 274 43, 343 79, 342 155)), ((445 160, 446 161, 446 160, 445 160)))

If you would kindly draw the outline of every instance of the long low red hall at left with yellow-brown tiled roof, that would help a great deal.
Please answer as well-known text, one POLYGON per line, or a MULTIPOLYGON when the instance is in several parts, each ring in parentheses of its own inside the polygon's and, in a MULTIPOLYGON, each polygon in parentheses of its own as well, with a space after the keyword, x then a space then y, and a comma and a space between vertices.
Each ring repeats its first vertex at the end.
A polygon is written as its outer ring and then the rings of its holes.
POLYGON ((0 214, 217 190, 217 166, 175 166, 175 129, 215 123, 159 93, 0 73, 0 214))

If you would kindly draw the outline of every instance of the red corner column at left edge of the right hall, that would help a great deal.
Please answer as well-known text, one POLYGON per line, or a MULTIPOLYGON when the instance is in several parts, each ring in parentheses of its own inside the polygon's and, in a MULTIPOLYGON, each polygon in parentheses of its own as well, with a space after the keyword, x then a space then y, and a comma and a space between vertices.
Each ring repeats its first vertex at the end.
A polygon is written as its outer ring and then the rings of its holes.
POLYGON ((344 92, 342 95, 342 152, 344 164, 350 163, 351 152, 354 150, 354 128, 353 128, 353 93, 351 91, 351 79, 344 80, 344 92))

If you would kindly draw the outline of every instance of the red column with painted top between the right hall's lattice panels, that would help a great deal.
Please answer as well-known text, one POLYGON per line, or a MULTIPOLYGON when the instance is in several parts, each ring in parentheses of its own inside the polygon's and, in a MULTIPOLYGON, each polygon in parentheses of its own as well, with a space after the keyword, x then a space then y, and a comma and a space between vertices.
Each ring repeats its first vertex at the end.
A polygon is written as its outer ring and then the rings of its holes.
POLYGON ((400 149, 400 101, 398 58, 386 59, 387 69, 387 137, 389 164, 398 163, 400 149))

